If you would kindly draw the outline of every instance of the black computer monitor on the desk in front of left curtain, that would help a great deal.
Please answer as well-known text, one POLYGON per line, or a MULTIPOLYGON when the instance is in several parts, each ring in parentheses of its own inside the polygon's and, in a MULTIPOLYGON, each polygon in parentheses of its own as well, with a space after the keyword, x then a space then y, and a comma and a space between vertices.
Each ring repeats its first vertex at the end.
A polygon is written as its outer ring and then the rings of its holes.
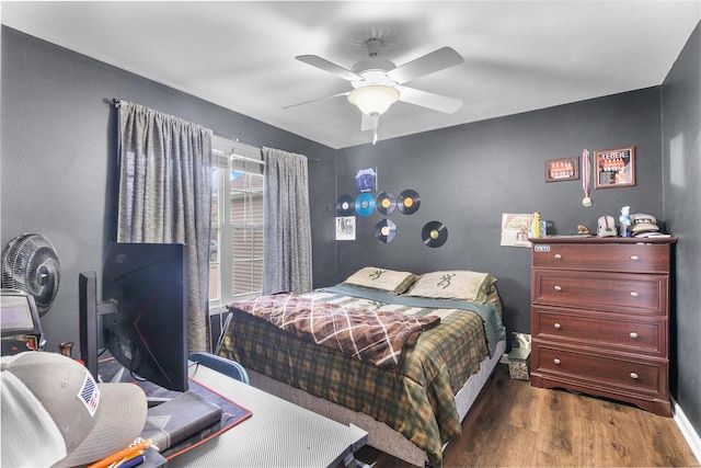
POLYGON ((81 358, 93 375, 103 339, 112 356, 136 376, 169 390, 187 390, 185 249, 173 243, 112 242, 102 274, 102 300, 94 272, 80 274, 81 358))

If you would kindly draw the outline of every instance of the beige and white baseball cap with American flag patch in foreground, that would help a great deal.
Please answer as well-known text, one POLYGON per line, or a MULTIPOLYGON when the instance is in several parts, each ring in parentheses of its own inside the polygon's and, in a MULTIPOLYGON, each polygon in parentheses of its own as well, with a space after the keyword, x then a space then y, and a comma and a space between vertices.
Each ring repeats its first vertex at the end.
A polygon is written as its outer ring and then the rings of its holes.
POLYGON ((126 448, 146 424, 134 384, 96 384, 70 357, 39 351, 3 356, 1 464, 72 467, 126 448))

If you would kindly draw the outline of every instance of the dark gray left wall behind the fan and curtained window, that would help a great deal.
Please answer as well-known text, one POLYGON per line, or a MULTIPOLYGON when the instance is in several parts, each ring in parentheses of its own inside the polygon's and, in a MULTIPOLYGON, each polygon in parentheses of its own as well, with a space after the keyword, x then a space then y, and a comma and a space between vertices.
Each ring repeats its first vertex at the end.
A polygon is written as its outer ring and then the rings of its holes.
MULTIPOLYGON (((334 199, 335 150, 5 26, 1 85, 0 241, 4 247, 20 233, 38 232, 57 250, 61 283, 42 319, 48 351, 73 341, 78 353, 78 274, 100 276, 105 244, 116 237, 113 98, 255 146, 307 155, 318 160, 309 162, 310 179, 319 181, 310 197, 334 199)), ((314 271, 321 275, 335 271, 329 210, 312 205, 314 271)))

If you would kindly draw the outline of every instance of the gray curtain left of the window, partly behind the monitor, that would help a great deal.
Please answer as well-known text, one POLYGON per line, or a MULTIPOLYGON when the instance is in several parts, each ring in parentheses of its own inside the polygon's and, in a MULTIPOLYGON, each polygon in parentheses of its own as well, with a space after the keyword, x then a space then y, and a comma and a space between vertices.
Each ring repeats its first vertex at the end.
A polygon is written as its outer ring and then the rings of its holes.
POLYGON ((188 347, 209 351, 211 130, 119 104, 118 242, 187 246, 188 347))

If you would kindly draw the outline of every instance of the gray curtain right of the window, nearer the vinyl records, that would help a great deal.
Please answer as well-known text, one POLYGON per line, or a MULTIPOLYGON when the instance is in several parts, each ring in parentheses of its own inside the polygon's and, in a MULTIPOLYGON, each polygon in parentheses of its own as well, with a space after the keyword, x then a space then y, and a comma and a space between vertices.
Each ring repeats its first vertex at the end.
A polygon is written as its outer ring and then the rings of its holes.
POLYGON ((307 157, 263 148, 263 294, 308 293, 311 220, 307 157))

